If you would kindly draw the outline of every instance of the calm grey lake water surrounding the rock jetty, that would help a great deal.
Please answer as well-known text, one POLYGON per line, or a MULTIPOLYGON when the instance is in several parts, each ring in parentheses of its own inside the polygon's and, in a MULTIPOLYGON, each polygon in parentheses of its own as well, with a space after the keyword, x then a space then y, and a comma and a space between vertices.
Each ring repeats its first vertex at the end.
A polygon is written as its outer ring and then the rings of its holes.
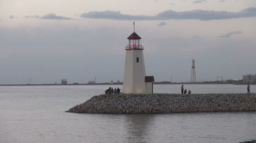
MULTIPOLYGON (((256 112, 75 114, 65 110, 109 85, 0 86, 0 142, 240 142, 256 139, 256 112)), ((122 85, 114 85, 121 88, 122 85)), ((193 93, 243 93, 247 85, 189 85, 193 93)), ((181 85, 154 85, 179 93, 181 85)), ((256 85, 251 85, 256 92, 256 85)))

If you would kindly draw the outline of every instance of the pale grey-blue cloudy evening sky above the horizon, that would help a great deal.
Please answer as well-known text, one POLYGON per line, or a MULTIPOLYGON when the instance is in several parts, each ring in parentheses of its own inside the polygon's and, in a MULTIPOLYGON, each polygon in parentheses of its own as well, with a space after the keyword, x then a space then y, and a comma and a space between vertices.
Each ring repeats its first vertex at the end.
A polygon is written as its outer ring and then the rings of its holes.
POLYGON ((255 0, 1 0, 0 84, 123 81, 133 21, 157 82, 256 74, 255 0))

